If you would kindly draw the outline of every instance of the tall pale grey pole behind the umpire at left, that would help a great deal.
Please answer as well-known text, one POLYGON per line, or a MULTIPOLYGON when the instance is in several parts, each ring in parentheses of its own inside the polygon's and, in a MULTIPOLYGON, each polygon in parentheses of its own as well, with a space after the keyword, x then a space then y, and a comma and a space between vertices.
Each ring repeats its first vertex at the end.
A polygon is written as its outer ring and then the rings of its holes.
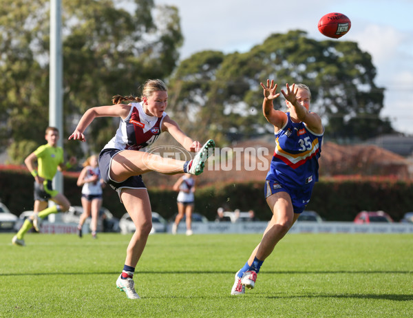
MULTIPOLYGON (((50 80, 49 125, 59 129, 57 145, 63 147, 63 54, 61 40, 61 0, 50 0, 50 80)), ((58 171, 54 189, 63 193, 63 177, 58 171)))

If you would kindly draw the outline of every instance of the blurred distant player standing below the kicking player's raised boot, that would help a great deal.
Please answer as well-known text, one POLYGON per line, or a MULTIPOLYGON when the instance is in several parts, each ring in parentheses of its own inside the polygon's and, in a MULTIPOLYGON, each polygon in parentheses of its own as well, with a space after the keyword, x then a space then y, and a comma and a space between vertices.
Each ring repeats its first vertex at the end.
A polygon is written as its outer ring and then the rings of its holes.
POLYGON ((192 235, 192 213, 195 204, 195 179, 186 174, 180 177, 175 184, 173 184, 173 191, 179 191, 176 204, 178 204, 178 215, 176 215, 175 222, 172 224, 172 234, 176 234, 179 222, 186 215, 185 223, 187 224, 187 235, 192 235))

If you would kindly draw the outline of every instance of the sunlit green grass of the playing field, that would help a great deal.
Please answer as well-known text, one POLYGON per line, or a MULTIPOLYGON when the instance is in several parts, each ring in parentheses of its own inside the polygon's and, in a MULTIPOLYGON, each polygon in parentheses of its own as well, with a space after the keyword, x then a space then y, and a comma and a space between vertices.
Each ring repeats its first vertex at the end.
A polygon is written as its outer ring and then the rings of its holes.
POLYGON ((254 290, 230 295, 261 235, 151 235, 116 288, 130 235, 0 235, 0 317, 412 317, 413 235, 289 234, 254 290))

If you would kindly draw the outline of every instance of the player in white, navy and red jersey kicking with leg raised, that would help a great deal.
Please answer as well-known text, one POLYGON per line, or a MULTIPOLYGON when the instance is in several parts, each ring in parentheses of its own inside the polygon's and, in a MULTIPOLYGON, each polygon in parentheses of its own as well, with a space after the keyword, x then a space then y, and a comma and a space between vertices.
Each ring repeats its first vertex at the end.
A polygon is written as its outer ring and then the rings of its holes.
POLYGON ((204 169, 209 149, 215 147, 215 143, 210 139, 201 147, 200 142, 185 135, 178 124, 169 118, 165 113, 167 87, 160 80, 147 81, 140 98, 117 95, 112 101, 115 105, 88 109, 69 139, 85 141, 83 133, 96 117, 120 117, 116 135, 100 152, 99 169, 103 180, 118 191, 120 201, 136 226, 116 286, 125 291, 128 298, 138 299, 132 278, 152 229, 151 203, 140 175, 148 171, 199 175, 204 169), (123 100, 138 103, 126 105, 121 103, 123 100), (168 131, 188 151, 198 151, 193 160, 180 161, 139 151, 151 145, 162 131, 168 131))

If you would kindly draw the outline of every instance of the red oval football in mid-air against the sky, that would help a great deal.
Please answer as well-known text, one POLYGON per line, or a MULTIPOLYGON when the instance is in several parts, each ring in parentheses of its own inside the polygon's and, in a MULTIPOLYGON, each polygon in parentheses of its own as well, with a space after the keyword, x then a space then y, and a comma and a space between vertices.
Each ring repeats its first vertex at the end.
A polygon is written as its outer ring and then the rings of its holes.
POLYGON ((320 19, 318 28, 325 36, 339 39, 350 30, 351 21, 344 14, 331 12, 320 19))

